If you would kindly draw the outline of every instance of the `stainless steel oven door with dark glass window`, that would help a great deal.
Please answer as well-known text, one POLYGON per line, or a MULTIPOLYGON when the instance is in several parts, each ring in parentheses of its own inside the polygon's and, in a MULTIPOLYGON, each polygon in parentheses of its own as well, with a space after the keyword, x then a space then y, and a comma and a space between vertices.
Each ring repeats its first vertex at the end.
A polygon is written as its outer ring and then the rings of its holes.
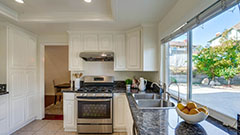
POLYGON ((112 98, 77 98, 77 123, 112 124, 112 98))

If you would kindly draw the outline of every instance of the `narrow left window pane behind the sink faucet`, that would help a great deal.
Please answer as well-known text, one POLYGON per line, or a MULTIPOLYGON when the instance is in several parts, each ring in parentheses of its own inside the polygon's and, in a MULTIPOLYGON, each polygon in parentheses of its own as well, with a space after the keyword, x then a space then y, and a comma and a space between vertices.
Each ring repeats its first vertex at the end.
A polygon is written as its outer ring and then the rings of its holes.
POLYGON ((170 41, 169 45, 169 69, 168 81, 172 83, 169 92, 178 95, 178 87, 180 86, 180 96, 187 97, 187 33, 170 41))

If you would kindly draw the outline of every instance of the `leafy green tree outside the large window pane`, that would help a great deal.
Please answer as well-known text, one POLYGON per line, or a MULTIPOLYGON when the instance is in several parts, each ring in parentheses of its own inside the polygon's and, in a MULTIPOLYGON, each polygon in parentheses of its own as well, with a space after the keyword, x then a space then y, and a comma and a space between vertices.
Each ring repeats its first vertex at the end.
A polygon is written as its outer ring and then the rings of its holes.
POLYGON ((228 39, 228 32, 221 35, 221 45, 200 48, 193 56, 193 62, 198 72, 213 81, 215 77, 223 76, 230 84, 230 80, 240 73, 240 41, 228 39))

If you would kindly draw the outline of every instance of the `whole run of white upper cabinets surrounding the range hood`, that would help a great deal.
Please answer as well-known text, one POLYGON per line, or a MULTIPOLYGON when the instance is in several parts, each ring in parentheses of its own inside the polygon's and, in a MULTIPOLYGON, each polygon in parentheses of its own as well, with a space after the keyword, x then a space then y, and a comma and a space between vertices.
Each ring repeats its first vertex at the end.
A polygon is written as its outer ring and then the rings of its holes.
POLYGON ((114 52, 114 71, 157 71, 157 30, 147 25, 126 33, 69 32, 69 70, 84 70, 81 52, 114 52))

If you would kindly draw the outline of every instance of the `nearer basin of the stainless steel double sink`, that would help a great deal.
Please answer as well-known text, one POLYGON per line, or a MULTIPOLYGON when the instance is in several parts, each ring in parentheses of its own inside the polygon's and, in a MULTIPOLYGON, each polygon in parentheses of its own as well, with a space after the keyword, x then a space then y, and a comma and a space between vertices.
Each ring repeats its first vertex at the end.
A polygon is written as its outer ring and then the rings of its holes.
POLYGON ((136 100, 139 109, 172 109, 175 104, 170 101, 160 99, 155 100, 136 100))

